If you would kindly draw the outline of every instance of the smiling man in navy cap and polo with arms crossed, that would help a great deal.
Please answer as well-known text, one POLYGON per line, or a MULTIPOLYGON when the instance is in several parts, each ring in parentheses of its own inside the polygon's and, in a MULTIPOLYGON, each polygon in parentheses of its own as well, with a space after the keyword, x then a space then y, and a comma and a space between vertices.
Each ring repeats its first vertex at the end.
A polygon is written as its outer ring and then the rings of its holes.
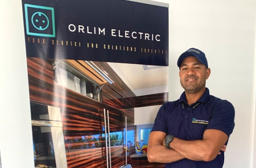
POLYGON ((166 168, 222 168, 234 107, 210 95, 206 80, 211 70, 202 51, 185 51, 177 65, 185 91, 159 109, 149 135, 148 161, 166 163, 166 168))

